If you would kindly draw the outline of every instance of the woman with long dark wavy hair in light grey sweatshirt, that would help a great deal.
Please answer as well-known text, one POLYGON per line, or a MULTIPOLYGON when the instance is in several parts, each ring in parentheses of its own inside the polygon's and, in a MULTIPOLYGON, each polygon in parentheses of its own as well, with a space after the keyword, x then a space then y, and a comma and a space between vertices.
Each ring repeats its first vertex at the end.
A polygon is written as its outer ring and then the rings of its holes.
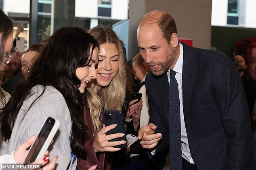
POLYGON ((52 117, 61 122, 50 150, 58 155, 56 170, 75 170, 77 158, 87 156, 82 148, 87 128, 83 122, 84 93, 87 83, 97 76, 98 60, 99 46, 89 33, 78 27, 55 31, 30 76, 1 110, 0 153, 10 154, 40 131, 42 120, 52 117))

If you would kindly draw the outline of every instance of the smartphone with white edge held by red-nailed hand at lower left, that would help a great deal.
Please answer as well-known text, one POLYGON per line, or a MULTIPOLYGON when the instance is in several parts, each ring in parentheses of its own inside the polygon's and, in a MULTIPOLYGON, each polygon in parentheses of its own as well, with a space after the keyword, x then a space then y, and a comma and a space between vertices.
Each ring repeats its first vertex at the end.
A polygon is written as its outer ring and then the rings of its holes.
POLYGON ((44 157, 46 150, 48 149, 53 137, 58 131, 59 125, 60 122, 57 119, 51 117, 46 119, 41 131, 29 148, 23 164, 30 164, 44 157))

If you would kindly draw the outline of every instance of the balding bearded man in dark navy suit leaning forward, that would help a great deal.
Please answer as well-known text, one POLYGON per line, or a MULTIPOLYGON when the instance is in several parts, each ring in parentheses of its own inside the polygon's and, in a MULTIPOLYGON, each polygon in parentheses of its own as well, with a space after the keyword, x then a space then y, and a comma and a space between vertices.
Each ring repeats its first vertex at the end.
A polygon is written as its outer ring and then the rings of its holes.
POLYGON ((149 124, 138 131, 149 158, 169 152, 175 170, 256 169, 246 95, 230 58, 179 42, 163 11, 141 19, 137 41, 151 69, 149 124))

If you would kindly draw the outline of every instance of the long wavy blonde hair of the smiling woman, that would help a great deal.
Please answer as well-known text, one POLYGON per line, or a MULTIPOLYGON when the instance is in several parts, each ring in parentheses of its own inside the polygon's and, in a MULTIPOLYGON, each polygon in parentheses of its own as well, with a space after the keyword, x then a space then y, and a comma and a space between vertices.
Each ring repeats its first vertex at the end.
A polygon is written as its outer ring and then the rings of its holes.
POLYGON ((94 79, 88 85, 87 102, 90 108, 90 116, 94 126, 94 135, 102 129, 100 121, 102 110, 122 110, 126 95, 126 68, 125 55, 120 39, 115 32, 107 26, 98 25, 88 31, 99 45, 113 43, 118 49, 119 69, 107 87, 97 88, 97 81, 94 79))

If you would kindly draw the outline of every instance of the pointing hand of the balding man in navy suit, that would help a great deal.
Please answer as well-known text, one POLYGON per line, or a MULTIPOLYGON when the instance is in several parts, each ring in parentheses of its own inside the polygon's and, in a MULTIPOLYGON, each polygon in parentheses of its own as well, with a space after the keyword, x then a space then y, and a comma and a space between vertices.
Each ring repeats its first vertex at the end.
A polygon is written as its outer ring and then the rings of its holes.
POLYGON ((162 139, 161 133, 155 133, 156 128, 155 124, 149 123, 138 130, 138 139, 141 140, 140 143, 143 148, 152 149, 162 139))

